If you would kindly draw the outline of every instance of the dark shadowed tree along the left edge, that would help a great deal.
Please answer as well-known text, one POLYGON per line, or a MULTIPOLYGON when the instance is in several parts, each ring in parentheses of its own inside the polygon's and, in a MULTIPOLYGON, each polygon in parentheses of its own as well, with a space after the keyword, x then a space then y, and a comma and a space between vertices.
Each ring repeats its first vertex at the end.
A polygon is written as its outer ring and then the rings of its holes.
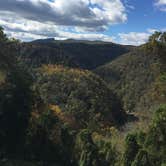
POLYGON ((17 63, 17 47, 0 28, 0 71, 5 82, 0 86, 0 139, 8 152, 21 150, 32 108, 32 79, 17 63))

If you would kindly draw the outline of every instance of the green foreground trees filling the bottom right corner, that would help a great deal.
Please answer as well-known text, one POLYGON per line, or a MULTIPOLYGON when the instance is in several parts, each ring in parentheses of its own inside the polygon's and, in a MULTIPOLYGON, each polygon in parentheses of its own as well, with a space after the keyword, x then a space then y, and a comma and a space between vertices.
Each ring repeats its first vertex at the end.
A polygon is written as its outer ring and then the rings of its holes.
POLYGON ((165 156, 166 105, 163 105, 156 111, 147 133, 131 133, 126 137, 124 165, 164 165, 165 156))

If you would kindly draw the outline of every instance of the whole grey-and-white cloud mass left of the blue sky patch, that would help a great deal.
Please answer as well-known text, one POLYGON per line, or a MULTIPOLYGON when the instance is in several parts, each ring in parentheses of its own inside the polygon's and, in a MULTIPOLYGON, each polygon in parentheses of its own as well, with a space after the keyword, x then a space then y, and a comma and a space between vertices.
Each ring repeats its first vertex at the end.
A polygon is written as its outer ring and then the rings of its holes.
POLYGON ((0 25, 24 41, 74 38, 112 41, 110 25, 124 23, 121 0, 0 0, 0 25))

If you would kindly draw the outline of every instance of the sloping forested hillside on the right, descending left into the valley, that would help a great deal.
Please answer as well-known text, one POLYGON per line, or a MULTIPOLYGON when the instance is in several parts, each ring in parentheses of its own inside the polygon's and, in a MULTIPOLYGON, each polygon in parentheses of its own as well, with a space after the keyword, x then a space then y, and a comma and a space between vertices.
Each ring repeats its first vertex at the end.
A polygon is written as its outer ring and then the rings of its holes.
POLYGON ((95 69, 129 112, 154 109, 166 102, 166 45, 157 41, 159 36, 154 34, 147 44, 95 69))

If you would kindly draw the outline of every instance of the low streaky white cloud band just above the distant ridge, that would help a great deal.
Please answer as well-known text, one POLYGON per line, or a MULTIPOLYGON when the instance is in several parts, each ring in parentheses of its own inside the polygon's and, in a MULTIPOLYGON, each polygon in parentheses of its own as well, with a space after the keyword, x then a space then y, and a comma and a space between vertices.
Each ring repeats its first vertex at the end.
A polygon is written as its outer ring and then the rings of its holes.
POLYGON ((44 38, 56 38, 56 39, 82 39, 82 40, 103 40, 113 41, 113 37, 104 35, 102 33, 85 33, 76 31, 69 31, 69 28, 64 26, 56 26, 52 23, 41 23, 37 21, 30 21, 19 16, 10 15, 5 13, 1 15, 0 12, 0 25, 5 28, 5 33, 9 37, 15 37, 23 41, 30 41, 44 38), (13 22, 14 20, 14 22, 13 22))

